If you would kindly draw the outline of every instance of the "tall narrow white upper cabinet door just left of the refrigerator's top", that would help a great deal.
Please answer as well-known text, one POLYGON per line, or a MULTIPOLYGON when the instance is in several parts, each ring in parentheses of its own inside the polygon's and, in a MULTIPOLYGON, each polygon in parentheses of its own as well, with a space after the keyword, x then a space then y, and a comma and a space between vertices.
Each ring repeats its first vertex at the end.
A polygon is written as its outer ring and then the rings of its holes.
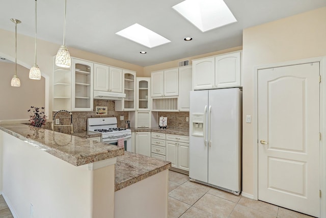
POLYGON ((192 66, 179 68, 179 111, 189 111, 190 109, 190 91, 192 90, 192 66))

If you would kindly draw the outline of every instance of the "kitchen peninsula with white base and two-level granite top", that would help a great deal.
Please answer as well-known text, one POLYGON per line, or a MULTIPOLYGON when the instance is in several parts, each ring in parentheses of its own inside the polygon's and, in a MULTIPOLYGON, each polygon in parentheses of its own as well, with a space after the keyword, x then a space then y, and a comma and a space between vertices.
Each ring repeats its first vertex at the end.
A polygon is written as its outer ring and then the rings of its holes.
POLYGON ((0 130, 0 187, 14 216, 124 217, 126 201, 153 206, 139 217, 167 216, 170 162, 23 124, 0 130))

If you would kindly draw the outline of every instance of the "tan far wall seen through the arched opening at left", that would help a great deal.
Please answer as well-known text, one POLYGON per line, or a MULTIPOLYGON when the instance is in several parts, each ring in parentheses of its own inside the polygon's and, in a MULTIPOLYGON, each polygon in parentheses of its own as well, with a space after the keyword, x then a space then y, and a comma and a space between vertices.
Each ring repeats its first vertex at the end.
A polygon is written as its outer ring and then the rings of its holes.
POLYGON ((0 120, 28 119, 31 106, 45 106, 45 79, 29 79, 30 69, 17 65, 20 87, 10 86, 15 64, 0 62, 0 120))

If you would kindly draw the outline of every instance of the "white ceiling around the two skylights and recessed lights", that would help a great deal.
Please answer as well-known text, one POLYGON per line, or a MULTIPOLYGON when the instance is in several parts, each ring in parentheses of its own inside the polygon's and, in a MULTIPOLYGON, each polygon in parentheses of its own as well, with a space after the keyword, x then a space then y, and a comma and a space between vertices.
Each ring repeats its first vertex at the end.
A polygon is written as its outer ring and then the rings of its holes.
MULTIPOLYGON (((149 66, 242 45, 244 28, 326 6, 326 0, 225 0, 238 21, 203 33, 172 9, 182 1, 67 0, 66 45, 149 66), (134 23, 171 42, 149 49, 115 34, 134 23), (184 41, 187 36, 193 40, 184 41)), ((10 18, 16 18, 18 34, 34 37, 34 7, 34 0, 2 1, 0 29, 14 32, 10 18)), ((61 45, 63 17, 64 0, 37 1, 37 37, 61 45)))

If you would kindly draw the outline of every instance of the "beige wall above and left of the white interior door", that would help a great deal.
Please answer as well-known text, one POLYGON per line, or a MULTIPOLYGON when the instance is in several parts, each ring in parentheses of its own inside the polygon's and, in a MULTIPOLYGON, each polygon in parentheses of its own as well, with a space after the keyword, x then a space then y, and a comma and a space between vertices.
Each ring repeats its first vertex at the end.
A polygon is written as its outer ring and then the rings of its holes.
MULTIPOLYGON (((243 31, 243 120, 253 115, 253 68, 257 65, 326 56, 326 7, 243 31)), ((243 123, 243 192, 253 194, 253 123, 243 123)))

